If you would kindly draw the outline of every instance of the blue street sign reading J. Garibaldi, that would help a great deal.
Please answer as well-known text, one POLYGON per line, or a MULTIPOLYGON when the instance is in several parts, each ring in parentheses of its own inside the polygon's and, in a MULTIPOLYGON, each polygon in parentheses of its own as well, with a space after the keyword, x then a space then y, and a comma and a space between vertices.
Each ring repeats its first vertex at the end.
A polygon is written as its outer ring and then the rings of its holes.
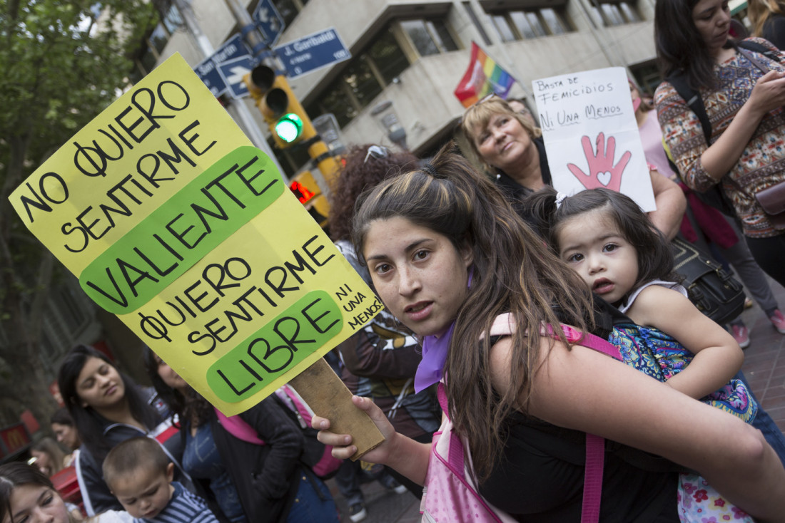
POLYGON ((272 50, 283 62, 289 78, 297 78, 352 57, 335 27, 279 45, 272 50))

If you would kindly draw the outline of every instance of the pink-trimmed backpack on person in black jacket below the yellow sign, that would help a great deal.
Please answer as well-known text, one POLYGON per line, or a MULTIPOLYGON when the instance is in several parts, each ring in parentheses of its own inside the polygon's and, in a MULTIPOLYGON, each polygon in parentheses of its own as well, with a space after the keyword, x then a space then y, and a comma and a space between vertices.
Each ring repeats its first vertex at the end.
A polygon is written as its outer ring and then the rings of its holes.
MULTIPOLYGON (((279 404, 285 407, 284 410, 289 417, 303 431, 305 449, 301 456, 302 462, 308 465, 319 478, 332 478, 338 472, 338 468, 341 467, 343 461, 333 457, 332 445, 324 445, 316 439, 318 430, 311 427, 311 418, 313 417, 311 408, 301 398, 300 394, 292 387, 289 387, 289 385, 283 385, 283 387, 276 389, 274 394, 279 404)), ((259 434, 257 434, 254 427, 251 427, 240 416, 225 416, 218 409, 215 409, 215 413, 221 422, 221 426, 235 438, 254 445, 265 445, 265 441, 259 438, 259 434)))

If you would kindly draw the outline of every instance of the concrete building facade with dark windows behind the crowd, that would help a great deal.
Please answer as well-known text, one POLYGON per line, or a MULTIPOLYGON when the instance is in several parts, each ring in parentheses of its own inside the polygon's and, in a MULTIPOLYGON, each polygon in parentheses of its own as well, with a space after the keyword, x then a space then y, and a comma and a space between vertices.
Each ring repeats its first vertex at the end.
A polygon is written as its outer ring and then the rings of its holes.
MULTIPOLYGON (((238 0, 253 13, 257 0, 238 0)), ((656 85, 654 0, 272 0, 286 20, 279 44, 335 27, 352 58, 291 81, 311 118, 332 113, 344 143, 392 145, 374 107, 390 101, 407 133, 407 147, 429 154, 451 138, 463 107, 453 94, 476 42, 515 78, 510 96, 531 92, 531 81, 601 67, 627 67, 644 85, 656 85)), ((225 2, 173 2, 192 9, 204 37, 217 48, 239 31, 225 2)), ((195 66, 203 53, 188 31, 161 31, 155 64, 181 53, 195 66), (166 35, 165 35, 166 36, 166 35)), ((152 64, 152 60, 140 60, 152 64)), ((142 72, 144 67, 142 67, 142 72)), ((265 135, 266 125, 250 107, 265 135)), ((535 109, 533 101, 528 104, 535 109)), ((229 108, 230 113, 232 108, 229 108)), ((536 112, 536 111, 535 111, 536 112)), ((238 118, 235 118, 237 120, 238 118)), ((240 122, 241 126, 243 122, 240 122)), ((279 154, 292 175, 308 159, 279 154)))

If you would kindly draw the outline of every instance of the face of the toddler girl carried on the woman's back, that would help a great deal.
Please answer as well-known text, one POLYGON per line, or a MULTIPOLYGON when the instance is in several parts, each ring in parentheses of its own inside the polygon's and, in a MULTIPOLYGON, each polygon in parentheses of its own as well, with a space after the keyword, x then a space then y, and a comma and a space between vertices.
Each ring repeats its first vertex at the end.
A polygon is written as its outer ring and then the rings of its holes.
POLYGON ((637 281, 637 251, 601 210, 559 226, 559 256, 580 274, 592 292, 618 303, 637 281))

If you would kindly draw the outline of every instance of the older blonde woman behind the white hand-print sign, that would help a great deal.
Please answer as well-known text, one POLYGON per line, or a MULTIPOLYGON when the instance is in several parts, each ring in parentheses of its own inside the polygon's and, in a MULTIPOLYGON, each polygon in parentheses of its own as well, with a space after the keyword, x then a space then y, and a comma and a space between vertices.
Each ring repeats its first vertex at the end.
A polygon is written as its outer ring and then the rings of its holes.
MULTIPOLYGON (((495 95, 466 109, 461 129, 471 153, 495 171, 495 183, 518 214, 532 223, 523 199, 532 191, 553 185, 542 131, 495 95)), ((663 234, 673 238, 686 208, 684 195, 664 176, 655 171, 650 175, 657 210, 648 216, 663 234)))

